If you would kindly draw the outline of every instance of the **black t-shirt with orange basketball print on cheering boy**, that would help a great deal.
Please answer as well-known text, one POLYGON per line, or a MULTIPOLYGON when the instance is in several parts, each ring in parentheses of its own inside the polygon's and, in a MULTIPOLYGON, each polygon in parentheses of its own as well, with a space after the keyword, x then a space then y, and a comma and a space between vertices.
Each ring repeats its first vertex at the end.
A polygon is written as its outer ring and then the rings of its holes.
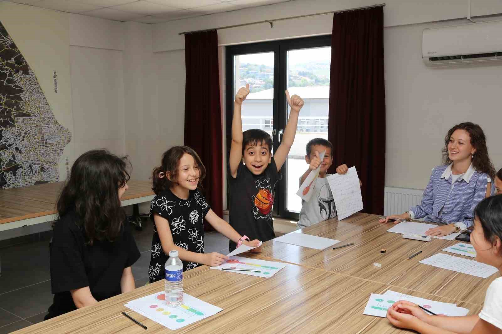
MULTIPOLYGON (((277 171, 274 157, 260 175, 254 175, 240 162, 237 175, 233 178, 228 165, 230 225, 241 236, 263 242, 275 238, 272 207, 275 185, 279 180, 281 173, 277 171)), ((233 251, 235 247, 236 244, 230 240, 229 250, 233 251)))

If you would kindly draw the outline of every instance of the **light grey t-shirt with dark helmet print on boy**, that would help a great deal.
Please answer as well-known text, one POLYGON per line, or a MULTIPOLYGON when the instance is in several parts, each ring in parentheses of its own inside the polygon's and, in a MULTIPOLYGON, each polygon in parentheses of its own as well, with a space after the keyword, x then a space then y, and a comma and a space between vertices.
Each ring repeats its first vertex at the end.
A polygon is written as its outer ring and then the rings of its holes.
MULTIPOLYGON (((326 174, 326 177, 329 175, 326 174)), ((301 229, 336 217, 335 201, 326 177, 317 178, 314 194, 312 194, 310 201, 302 201, 300 220, 297 223, 298 228, 301 229)))

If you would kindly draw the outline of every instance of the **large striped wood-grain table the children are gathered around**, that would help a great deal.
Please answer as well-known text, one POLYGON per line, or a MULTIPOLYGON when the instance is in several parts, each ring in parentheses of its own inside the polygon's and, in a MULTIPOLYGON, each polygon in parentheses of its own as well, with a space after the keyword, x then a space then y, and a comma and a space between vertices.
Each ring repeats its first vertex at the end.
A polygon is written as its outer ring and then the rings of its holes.
MULTIPOLYGON (((265 242, 261 254, 244 256, 285 261, 289 265, 271 278, 261 278, 201 266, 184 273, 185 292, 223 308, 216 315, 178 329, 179 333, 399 333, 386 318, 363 315, 370 293, 388 289, 415 296, 456 303, 481 310, 494 274, 482 279, 419 264, 418 261, 458 241, 431 242, 402 239, 385 232, 374 215, 356 214, 338 222, 326 221, 302 233, 355 242, 337 250, 315 250, 265 242), (387 248, 387 253, 380 253, 387 248), (422 254, 406 258, 422 250, 422 254), (373 262, 382 264, 374 267, 373 262)), ((451 253, 450 253, 451 255, 451 253)), ((455 255, 460 256, 460 255, 455 255)), ((123 306, 126 302, 164 289, 164 282, 137 288, 96 305, 34 324, 17 333, 150 333, 170 329, 123 306), (145 330, 120 312, 126 311, 148 326, 145 330)))

